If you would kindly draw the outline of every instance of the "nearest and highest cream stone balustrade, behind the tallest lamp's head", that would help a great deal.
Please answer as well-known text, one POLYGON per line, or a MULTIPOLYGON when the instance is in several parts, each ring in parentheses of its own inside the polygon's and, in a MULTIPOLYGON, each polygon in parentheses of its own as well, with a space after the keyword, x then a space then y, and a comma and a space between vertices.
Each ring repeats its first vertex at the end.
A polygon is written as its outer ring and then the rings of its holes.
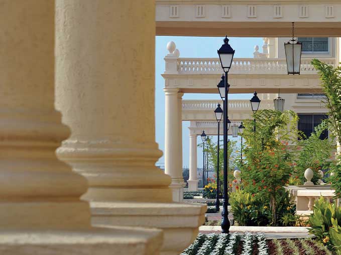
MULTIPOLYGON (((319 58, 322 62, 335 66, 334 58, 319 58)), ((310 64, 311 58, 301 59, 302 74, 316 74, 310 64)), ((221 74, 222 69, 218 58, 179 58, 177 61, 179 74, 221 74)), ((286 74, 285 59, 234 58, 231 74, 286 74)))

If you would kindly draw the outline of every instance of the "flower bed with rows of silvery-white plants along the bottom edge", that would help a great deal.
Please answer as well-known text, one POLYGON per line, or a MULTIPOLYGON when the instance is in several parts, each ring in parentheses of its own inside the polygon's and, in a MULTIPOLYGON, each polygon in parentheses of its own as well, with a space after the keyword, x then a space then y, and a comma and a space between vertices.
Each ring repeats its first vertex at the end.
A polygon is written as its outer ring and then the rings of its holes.
POLYGON ((312 239, 266 240, 264 233, 232 234, 199 233, 195 241, 181 255, 332 255, 323 245, 312 239))

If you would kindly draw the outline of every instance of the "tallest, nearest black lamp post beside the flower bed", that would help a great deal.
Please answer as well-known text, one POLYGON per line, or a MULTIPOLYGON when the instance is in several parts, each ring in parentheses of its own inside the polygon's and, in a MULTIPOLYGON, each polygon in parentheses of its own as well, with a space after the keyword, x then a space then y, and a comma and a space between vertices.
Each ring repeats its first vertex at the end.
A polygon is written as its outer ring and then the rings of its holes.
MULTIPOLYGON (((220 59, 221 68, 225 73, 224 79, 224 104, 223 104, 223 115, 224 115, 224 178, 223 178, 223 202, 222 202, 222 220, 221 220, 221 232, 229 233, 230 232, 230 221, 229 221, 229 211, 228 211, 228 203, 229 203, 229 194, 228 194, 228 94, 229 94, 229 84, 228 80, 228 72, 232 66, 233 56, 235 54, 235 50, 229 44, 229 39, 226 36, 224 39, 224 44, 217 51, 220 59)), ((219 88, 219 87, 218 87, 219 88)), ((220 90, 219 90, 220 93, 220 90)), ((221 96, 221 93, 220 93, 221 96)), ((231 123, 230 123, 231 124, 231 123)))

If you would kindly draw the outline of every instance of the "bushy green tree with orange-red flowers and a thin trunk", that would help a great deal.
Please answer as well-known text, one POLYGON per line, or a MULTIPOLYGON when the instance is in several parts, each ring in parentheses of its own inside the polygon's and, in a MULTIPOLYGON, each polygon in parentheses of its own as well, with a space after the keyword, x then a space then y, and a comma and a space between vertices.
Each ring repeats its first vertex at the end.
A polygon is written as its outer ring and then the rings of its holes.
POLYGON ((259 110, 255 122, 245 120, 242 180, 245 191, 267 198, 276 225, 276 197, 283 193, 292 172, 293 149, 297 141, 297 114, 274 110, 259 110), (291 145, 291 148, 287 145, 291 145))

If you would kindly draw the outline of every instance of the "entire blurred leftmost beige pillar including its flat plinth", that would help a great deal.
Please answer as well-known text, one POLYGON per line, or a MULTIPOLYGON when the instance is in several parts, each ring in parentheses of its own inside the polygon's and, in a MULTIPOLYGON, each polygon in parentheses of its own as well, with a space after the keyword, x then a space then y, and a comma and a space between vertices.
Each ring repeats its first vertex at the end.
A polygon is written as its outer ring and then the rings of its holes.
POLYGON ((160 231, 92 228, 86 179, 56 157, 54 18, 54 1, 0 1, 0 253, 159 253, 160 231))

